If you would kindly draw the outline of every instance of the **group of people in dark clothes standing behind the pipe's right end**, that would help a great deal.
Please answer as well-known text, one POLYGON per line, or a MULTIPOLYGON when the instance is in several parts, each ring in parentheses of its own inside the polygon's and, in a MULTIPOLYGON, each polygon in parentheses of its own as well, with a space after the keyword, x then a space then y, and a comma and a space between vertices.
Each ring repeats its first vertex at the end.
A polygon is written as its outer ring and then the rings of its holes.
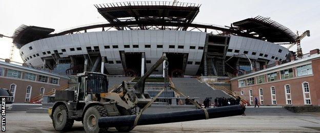
MULTIPOLYGON (((205 108, 209 107, 211 105, 212 97, 207 97, 204 100, 204 106, 205 108)), ((240 104, 240 97, 237 97, 236 99, 234 98, 218 98, 216 97, 214 99, 214 107, 221 107, 221 106, 229 106, 229 105, 238 105, 240 104)))

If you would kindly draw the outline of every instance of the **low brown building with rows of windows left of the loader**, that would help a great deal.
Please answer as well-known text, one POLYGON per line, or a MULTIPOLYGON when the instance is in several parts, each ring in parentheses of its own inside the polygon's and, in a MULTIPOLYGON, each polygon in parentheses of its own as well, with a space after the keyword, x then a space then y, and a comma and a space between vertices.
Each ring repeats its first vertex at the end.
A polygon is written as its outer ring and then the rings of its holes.
POLYGON ((0 87, 10 90, 15 103, 30 102, 33 97, 68 85, 66 76, 9 62, 0 61, 0 87))

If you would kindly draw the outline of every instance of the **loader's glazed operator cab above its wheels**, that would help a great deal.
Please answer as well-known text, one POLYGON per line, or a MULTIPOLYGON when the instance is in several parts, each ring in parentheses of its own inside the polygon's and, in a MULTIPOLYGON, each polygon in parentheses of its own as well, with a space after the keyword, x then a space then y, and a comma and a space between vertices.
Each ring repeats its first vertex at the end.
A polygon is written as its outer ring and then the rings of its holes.
POLYGON ((88 94, 108 93, 108 76, 102 73, 84 72, 77 75, 77 101, 84 101, 88 94))

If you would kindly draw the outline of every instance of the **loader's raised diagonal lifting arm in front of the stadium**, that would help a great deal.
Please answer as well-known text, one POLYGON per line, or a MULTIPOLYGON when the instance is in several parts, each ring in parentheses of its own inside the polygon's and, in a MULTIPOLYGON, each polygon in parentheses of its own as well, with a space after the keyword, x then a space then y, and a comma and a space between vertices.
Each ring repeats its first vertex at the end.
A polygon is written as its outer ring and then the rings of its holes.
POLYGON ((155 64, 152 65, 152 67, 142 76, 133 86, 133 88, 139 92, 140 94, 145 93, 145 82, 146 79, 152 74, 156 68, 158 68, 159 65, 163 63, 163 61, 167 60, 166 56, 162 56, 155 64))

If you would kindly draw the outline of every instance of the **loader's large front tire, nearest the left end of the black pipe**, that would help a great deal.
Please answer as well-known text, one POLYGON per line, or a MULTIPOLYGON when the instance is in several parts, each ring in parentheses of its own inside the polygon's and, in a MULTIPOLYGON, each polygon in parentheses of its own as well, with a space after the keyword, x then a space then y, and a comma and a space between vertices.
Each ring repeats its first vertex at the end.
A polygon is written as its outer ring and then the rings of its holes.
POLYGON ((99 128, 98 119, 100 117, 107 117, 106 108, 103 106, 89 107, 85 113, 83 126, 88 133, 107 132, 108 128, 99 128))

